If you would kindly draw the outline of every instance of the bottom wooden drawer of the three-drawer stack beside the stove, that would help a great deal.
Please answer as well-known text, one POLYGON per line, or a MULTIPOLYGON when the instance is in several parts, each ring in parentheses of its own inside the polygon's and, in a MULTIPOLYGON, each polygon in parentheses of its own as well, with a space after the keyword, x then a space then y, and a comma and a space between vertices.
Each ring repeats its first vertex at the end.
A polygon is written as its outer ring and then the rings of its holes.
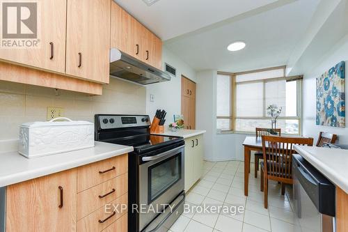
POLYGON ((115 201, 111 201, 106 206, 96 210, 87 217, 77 222, 78 232, 96 232, 106 229, 107 226, 116 222, 123 215, 127 216, 127 210, 122 210, 121 206, 127 206, 128 194, 123 194, 115 201), (113 206, 117 206, 116 210, 113 206))

